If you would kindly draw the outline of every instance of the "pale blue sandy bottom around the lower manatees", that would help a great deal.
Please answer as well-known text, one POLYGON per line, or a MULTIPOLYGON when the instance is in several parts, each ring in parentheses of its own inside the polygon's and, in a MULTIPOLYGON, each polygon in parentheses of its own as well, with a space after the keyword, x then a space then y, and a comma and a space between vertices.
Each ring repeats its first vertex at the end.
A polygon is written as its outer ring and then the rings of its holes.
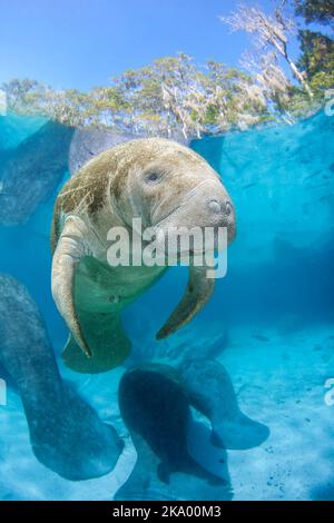
MULTIPOLYGON (((334 377, 334 329, 285 336, 250 327, 234 330, 219 359, 242 409, 271 430, 261 447, 227 452, 234 500, 334 500, 334 405, 326 404, 324 386, 334 377)), ((61 371, 116 426, 125 452, 109 475, 62 480, 33 456, 20 399, 9 391, 7 406, 0 407, 1 500, 112 500, 131 472, 136 453, 117 407, 122 371, 95 377, 61 371)))

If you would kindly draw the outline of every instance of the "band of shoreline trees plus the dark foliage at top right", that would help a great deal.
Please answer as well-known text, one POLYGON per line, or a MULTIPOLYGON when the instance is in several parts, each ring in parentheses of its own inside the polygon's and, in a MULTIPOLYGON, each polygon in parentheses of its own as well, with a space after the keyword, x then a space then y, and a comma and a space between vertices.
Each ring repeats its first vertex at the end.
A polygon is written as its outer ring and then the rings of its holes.
MULTIPOLYGON (((292 1, 296 13, 307 22, 333 20, 333 0, 292 1)), ((278 29, 283 27, 284 37, 285 27, 293 26, 293 21, 281 14, 276 11, 275 20, 278 29)), ((268 31, 267 24, 262 27, 261 17, 256 20, 258 31, 268 31)), ((269 29, 274 31, 276 26, 269 24, 269 29)), ((279 41, 285 42, 283 37, 279 41)), ((112 78, 109 86, 89 92, 56 91, 29 79, 13 79, 2 89, 9 110, 18 114, 42 115, 71 127, 107 127, 140 136, 190 139, 277 119, 293 122, 295 116, 318 107, 324 91, 334 87, 334 42, 310 30, 299 31, 299 41, 302 55, 298 63, 293 63, 299 88, 287 79, 274 50, 255 60, 249 58, 244 66, 249 75, 215 60, 198 67, 180 52, 129 69, 112 78)))

